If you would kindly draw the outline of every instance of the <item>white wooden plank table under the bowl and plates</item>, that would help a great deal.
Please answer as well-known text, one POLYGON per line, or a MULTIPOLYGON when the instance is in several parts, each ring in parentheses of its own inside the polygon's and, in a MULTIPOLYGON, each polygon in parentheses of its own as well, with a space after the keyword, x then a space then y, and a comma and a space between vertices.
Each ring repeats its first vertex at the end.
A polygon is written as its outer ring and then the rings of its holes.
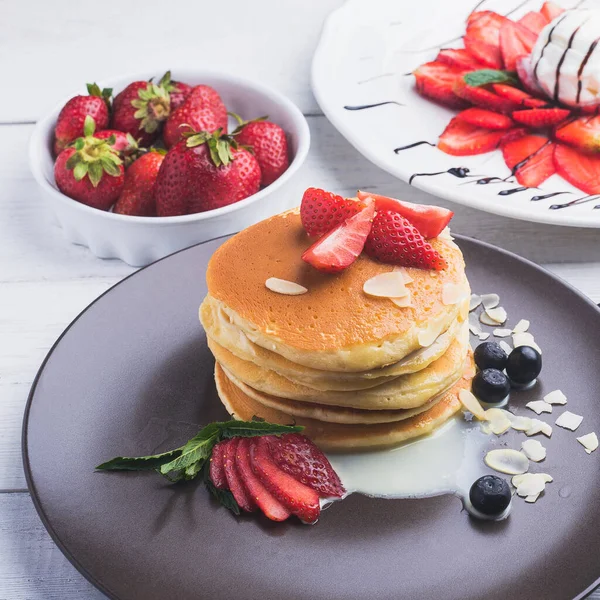
MULTIPOLYGON (((398 0, 407 1, 407 0, 398 0)), ((133 269, 68 244, 27 164, 33 123, 87 81, 129 71, 209 67, 270 84, 307 116, 312 148, 284 193, 357 188, 431 197, 360 156, 329 124, 309 86, 325 16, 342 0, 158 0, 92 3, 0 0, 0 600, 99 599, 51 541, 21 464, 21 420, 54 340, 92 300, 133 269), (169 13, 172 10, 174 12, 169 13)), ((453 230, 544 264, 600 302, 600 232, 513 221, 444 201, 453 230)), ((593 597, 600 598, 596 592, 593 597)))

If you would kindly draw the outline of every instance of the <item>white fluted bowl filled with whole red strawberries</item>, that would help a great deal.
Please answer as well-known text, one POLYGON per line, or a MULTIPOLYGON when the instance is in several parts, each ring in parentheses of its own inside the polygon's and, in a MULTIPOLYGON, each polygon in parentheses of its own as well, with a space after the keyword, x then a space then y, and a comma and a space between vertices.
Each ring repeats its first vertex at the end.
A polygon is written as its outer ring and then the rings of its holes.
POLYGON ((30 165, 66 237, 143 266, 290 208, 306 119, 262 84, 209 71, 88 84, 40 119, 30 165))

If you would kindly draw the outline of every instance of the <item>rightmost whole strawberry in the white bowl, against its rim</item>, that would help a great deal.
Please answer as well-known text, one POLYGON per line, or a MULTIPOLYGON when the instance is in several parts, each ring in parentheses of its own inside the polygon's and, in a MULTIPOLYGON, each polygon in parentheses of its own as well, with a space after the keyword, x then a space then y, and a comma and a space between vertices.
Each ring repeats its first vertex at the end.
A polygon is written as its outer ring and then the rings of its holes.
POLYGON ((267 121, 266 117, 243 121, 232 114, 239 123, 233 135, 237 136, 238 144, 251 148, 260 165, 262 187, 271 185, 290 166, 285 131, 276 123, 267 121))

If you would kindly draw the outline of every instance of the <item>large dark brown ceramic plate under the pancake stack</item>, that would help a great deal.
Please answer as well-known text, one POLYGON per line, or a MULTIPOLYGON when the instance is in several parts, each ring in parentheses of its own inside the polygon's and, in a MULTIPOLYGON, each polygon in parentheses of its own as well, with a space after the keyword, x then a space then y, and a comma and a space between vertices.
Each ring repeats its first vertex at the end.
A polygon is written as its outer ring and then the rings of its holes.
MULTIPOLYGON (((235 518, 200 483, 94 472, 116 455, 180 445, 223 418, 197 312, 223 240, 143 269, 90 305, 50 351, 25 414, 23 454, 44 525, 69 560, 119 600, 565 600, 600 577, 600 451, 554 427, 554 483, 509 519, 478 522, 452 496, 351 496, 308 527, 235 518)), ((474 290, 531 320, 544 370, 523 405, 561 388, 600 433, 600 312, 536 265, 458 238, 474 290)), ((559 411, 556 411, 558 413, 559 411)), ((530 411, 527 413, 532 415, 530 411)), ((522 434, 503 438, 519 447, 522 434)))

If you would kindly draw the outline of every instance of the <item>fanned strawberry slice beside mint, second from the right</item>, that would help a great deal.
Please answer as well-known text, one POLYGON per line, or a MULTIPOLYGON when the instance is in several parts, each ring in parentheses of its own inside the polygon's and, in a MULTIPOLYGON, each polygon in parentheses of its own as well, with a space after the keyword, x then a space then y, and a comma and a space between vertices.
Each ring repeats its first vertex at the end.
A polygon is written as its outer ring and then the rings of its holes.
POLYGON ((269 448, 270 437, 255 438, 250 446, 250 463, 254 473, 289 512, 305 523, 315 523, 321 512, 319 494, 275 464, 269 448))

